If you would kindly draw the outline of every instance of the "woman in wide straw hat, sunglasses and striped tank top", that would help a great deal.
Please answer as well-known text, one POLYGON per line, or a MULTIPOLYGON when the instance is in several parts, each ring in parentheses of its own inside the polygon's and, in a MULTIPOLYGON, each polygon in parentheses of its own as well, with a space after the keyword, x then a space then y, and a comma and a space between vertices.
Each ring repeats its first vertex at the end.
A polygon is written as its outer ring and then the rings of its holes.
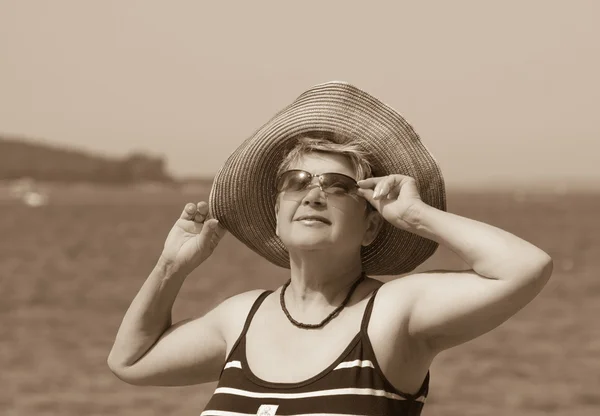
POLYGON ((321 84, 231 155, 208 204, 185 206, 108 364, 137 385, 218 380, 206 416, 418 415, 435 356, 515 314, 551 271, 532 244, 446 212, 439 168, 398 113, 321 84), (290 279, 173 324, 225 229, 290 279), (438 244, 471 268, 407 274, 438 244))

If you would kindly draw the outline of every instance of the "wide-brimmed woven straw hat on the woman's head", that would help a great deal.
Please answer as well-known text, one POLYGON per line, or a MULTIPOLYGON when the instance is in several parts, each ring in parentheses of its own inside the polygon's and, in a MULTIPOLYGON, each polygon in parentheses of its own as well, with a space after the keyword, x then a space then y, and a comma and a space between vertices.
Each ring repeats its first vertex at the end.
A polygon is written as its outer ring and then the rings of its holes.
MULTIPOLYGON (((439 166, 400 114, 348 83, 319 84, 246 139, 225 161, 210 192, 210 215, 270 262, 290 267, 288 252, 275 234, 277 168, 294 139, 311 131, 350 138, 370 155, 374 176, 411 176, 425 203, 446 210, 439 166)), ((362 247, 363 270, 371 275, 407 273, 436 248, 437 243, 384 222, 377 238, 362 247)))

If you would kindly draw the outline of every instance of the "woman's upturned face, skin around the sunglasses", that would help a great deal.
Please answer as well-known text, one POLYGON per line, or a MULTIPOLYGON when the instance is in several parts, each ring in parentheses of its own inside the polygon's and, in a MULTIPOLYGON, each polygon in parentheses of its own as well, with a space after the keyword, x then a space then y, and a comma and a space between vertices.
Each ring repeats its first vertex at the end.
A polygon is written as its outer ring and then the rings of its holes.
MULTIPOLYGON (((348 159, 342 155, 309 153, 289 169, 302 169, 312 175, 341 173, 356 179, 348 159)), ((313 185, 318 179, 313 178, 313 185)), ((318 186, 298 193, 278 195, 277 235, 288 250, 318 250, 335 247, 336 250, 355 252, 367 245, 377 233, 377 211, 366 215, 368 202, 350 195, 331 195, 318 186), (324 221, 302 220, 316 215, 324 221)))

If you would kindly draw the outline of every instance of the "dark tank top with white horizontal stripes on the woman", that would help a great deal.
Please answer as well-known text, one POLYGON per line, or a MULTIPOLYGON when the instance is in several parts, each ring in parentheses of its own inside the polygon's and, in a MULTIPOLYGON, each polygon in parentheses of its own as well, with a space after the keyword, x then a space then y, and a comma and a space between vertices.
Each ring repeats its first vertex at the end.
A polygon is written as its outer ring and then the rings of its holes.
POLYGON ((405 394, 390 384, 375 359, 367 325, 377 291, 365 308, 359 333, 321 373, 298 383, 274 383, 256 377, 246 360, 246 333, 269 293, 262 293, 250 309, 201 416, 421 414, 429 390, 429 373, 417 394, 405 394))

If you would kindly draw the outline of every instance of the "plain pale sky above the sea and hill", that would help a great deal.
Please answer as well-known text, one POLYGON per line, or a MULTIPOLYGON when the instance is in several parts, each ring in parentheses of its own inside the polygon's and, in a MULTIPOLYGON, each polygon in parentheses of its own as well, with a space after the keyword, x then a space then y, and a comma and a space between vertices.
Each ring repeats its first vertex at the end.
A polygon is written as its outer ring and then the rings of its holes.
POLYGON ((600 2, 0 2, 0 134, 216 173, 304 90, 395 108, 447 185, 600 188, 600 2))

